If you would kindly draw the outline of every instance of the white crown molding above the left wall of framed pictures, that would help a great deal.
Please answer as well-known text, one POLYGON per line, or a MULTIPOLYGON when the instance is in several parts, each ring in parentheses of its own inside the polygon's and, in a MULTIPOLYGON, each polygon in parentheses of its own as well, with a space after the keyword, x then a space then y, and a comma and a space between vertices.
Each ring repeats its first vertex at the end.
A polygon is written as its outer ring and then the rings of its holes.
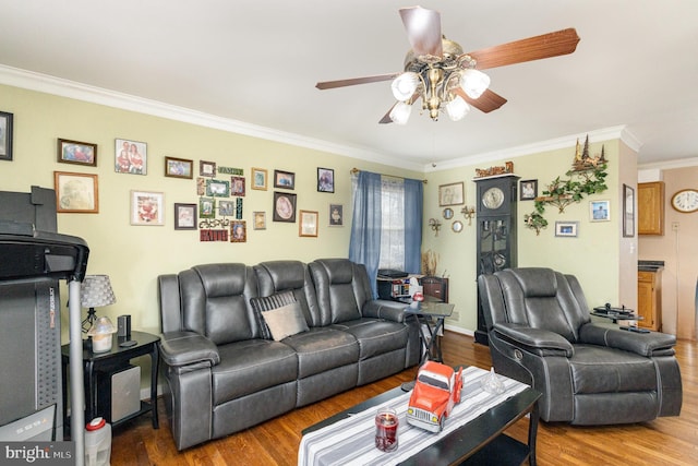
POLYGON ((386 156, 363 147, 353 147, 332 143, 313 138, 302 136, 273 128, 246 123, 230 118, 217 117, 190 108, 178 107, 130 94, 91 86, 75 81, 64 80, 48 74, 21 70, 19 68, 0 64, 0 84, 14 87, 37 91, 60 97, 84 100, 92 104, 135 111, 215 130, 260 138, 284 144, 296 145, 315 151, 328 152, 345 157, 358 158, 368 162, 378 162, 385 165, 400 166, 414 171, 422 171, 422 165, 406 163, 397 157, 386 156))

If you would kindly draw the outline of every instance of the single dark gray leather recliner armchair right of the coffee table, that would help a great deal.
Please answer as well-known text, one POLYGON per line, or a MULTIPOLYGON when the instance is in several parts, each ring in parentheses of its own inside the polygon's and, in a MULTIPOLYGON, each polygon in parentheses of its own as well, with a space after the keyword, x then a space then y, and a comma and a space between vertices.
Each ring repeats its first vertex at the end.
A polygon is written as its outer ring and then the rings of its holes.
POLYGON ((592 322, 579 282, 550 268, 478 277, 497 372, 543 393, 541 419, 573 425, 678 416, 676 338, 592 322))

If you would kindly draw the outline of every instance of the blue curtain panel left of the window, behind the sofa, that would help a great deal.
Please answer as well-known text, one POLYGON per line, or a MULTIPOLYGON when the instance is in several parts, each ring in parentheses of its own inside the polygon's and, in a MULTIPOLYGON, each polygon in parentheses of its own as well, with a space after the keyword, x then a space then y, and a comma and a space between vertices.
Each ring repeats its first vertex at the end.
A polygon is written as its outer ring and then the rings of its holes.
POLYGON ((360 171, 353 198, 353 217, 349 260, 363 264, 369 273, 373 296, 381 260, 381 175, 360 171))

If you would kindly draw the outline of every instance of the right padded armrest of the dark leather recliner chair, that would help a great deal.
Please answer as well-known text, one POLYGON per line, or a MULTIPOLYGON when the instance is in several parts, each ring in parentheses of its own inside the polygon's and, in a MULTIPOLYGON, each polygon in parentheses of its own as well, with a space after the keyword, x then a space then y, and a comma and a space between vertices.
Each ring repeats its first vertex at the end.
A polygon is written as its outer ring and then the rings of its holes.
POLYGON ((640 356, 667 356, 674 354, 676 337, 665 333, 636 333, 594 323, 579 328, 580 343, 624 349, 640 356))

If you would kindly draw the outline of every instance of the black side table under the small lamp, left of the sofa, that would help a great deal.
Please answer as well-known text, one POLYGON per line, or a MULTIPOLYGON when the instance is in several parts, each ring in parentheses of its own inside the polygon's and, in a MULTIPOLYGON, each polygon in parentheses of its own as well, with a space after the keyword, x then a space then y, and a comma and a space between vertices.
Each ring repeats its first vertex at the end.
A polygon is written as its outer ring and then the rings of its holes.
MULTIPOLYGON (((153 417, 153 429, 157 429, 157 374, 159 365, 159 351, 158 342, 160 337, 152 335, 145 332, 131 332, 130 337, 113 337, 113 344, 110 351, 93 353, 92 349, 83 349, 83 372, 85 383, 85 421, 89 421, 97 416, 97 371, 108 372, 119 369, 125 369, 131 359, 139 356, 151 356, 151 401, 141 401, 141 409, 123 419, 112 422, 112 427, 117 427, 123 422, 127 422, 137 416, 151 413, 153 417), (127 339, 135 340, 136 344, 130 347, 121 347, 120 343, 127 339)), ((67 372, 68 365, 70 363, 70 345, 63 345, 61 347, 61 367, 62 367, 62 385, 63 385, 63 406, 67 403, 68 390, 67 390, 67 372)), ((75 409, 75 407, 71 407, 75 409)), ((68 428, 68 415, 67 409, 63 409, 63 426, 68 428)), ((68 434, 68 433, 67 433, 68 434)))

